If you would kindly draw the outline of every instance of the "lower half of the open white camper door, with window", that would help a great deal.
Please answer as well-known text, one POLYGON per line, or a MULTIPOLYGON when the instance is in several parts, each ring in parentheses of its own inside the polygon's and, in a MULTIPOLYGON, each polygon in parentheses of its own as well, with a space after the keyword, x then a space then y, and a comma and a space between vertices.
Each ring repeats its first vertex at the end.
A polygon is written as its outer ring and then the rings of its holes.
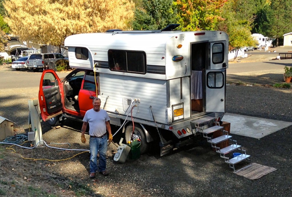
POLYGON ((206 70, 206 112, 226 111, 226 69, 206 70))

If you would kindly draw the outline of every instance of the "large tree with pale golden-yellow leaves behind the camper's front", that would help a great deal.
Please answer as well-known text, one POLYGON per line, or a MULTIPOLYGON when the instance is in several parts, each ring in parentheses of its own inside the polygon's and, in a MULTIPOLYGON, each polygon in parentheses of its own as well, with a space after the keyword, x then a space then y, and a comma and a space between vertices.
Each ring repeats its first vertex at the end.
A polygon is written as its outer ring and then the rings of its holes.
POLYGON ((14 35, 38 44, 61 46, 67 36, 128 29, 132 0, 10 0, 4 2, 14 35))

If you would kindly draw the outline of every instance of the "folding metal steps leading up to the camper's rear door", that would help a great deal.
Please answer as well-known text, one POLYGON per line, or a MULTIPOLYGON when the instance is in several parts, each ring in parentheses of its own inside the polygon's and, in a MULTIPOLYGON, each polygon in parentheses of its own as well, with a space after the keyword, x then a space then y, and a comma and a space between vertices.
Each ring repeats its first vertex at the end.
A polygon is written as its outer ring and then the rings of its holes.
POLYGON ((229 167, 234 170, 234 173, 251 166, 251 155, 247 155, 241 145, 238 145, 237 141, 232 140, 232 136, 228 134, 228 131, 224 130, 223 126, 220 126, 219 122, 215 121, 214 117, 206 116, 191 122, 195 125, 196 131, 201 133, 203 137, 207 139, 207 142, 211 144, 212 148, 215 148, 216 153, 220 154, 220 157, 224 159, 225 163, 229 164, 229 167), (211 134, 215 131, 222 131, 222 136, 212 138, 211 134), (229 146, 220 149, 217 145, 224 141, 228 141, 229 146), (227 157, 228 153, 233 153, 236 150, 238 150, 241 155, 233 158, 227 157), (250 163, 236 170, 235 165, 243 161, 249 161, 250 163))

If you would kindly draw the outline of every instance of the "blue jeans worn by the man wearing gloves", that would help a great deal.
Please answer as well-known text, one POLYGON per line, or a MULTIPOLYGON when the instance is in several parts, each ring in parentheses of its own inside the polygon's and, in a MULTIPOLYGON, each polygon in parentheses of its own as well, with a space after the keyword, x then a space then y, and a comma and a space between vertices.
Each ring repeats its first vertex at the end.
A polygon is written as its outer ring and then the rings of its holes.
POLYGON ((89 138, 90 149, 90 173, 105 171, 106 168, 106 153, 107 153, 107 135, 102 138, 89 138), (99 152, 99 161, 97 165, 97 153, 99 152))

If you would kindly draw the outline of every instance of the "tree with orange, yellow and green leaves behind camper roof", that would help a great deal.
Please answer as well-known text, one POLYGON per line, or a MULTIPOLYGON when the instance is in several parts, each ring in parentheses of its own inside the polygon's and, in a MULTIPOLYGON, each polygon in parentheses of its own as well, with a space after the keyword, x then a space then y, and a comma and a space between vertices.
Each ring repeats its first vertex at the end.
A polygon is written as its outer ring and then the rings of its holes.
POLYGON ((176 0, 179 22, 183 31, 214 30, 227 0, 176 0))

